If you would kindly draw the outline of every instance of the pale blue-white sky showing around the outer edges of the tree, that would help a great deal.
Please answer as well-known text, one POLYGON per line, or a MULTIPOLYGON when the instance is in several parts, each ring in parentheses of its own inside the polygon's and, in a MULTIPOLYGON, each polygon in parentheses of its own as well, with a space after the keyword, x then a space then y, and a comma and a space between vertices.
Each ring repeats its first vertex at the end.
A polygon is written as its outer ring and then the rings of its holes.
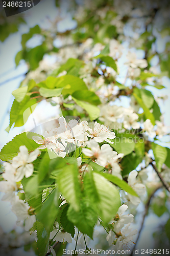
MULTIPOLYGON (((64 2, 63 2, 64 3, 64 2)), ((53 0, 41 0, 41 2, 35 6, 34 8, 28 10, 26 12, 26 22, 27 25, 21 25, 20 29, 17 33, 11 34, 5 42, 0 42, 0 83, 15 77, 19 74, 24 74, 27 72, 27 65, 24 61, 20 62, 20 65, 15 68, 15 55, 18 51, 21 50, 21 34, 27 33, 30 27, 34 27, 35 25, 40 25, 41 27, 48 28, 50 23, 48 22, 48 17, 50 19, 54 19, 57 15, 57 9, 54 8, 53 0)), ((63 13, 64 15, 64 13, 63 13)), ((75 26, 75 22, 71 20, 71 17, 68 16, 64 22, 60 23, 60 30, 64 30, 66 27, 71 28, 75 26)), ((160 51, 162 47, 162 41, 158 41, 160 45, 160 51)), ((140 54, 140 53, 139 53, 140 54)), ((16 134, 22 131, 22 127, 15 127, 11 129, 9 134, 5 131, 6 127, 9 125, 9 111, 13 102, 14 97, 12 96, 12 91, 18 88, 19 83, 23 80, 24 76, 21 76, 15 80, 7 82, 0 86, 0 148, 3 147, 8 141, 10 141, 16 134)), ((169 95, 170 89, 170 80, 166 77, 163 78, 163 85, 167 86, 167 89, 163 89, 161 93, 165 93, 169 95)), ((151 88, 150 88, 151 89, 151 88)), ((160 91, 157 89, 153 89, 155 94, 160 95, 160 91)), ((170 125, 169 118, 169 109, 170 104, 169 100, 165 101, 164 105, 161 103, 161 109, 165 113, 165 124, 170 125)), ((168 146, 166 144, 166 146, 168 146)), ((16 217, 10 211, 10 204, 8 202, 1 202, 1 219, 0 225, 4 228, 5 231, 10 231, 15 226, 16 217)), ((138 206, 138 209, 143 212, 142 205, 138 206)), ((158 218, 155 215, 150 215, 145 220, 144 231, 141 233, 141 237, 138 243, 138 248, 142 248, 143 244, 145 247, 148 247, 151 244, 152 233, 156 228, 157 224, 160 221, 164 221, 167 219, 166 214, 161 218, 158 218), (161 219, 161 220, 160 220, 161 219)), ((133 225, 134 228, 139 228, 140 223, 136 223, 133 225)), ((150 248, 150 247, 149 247, 150 248)))

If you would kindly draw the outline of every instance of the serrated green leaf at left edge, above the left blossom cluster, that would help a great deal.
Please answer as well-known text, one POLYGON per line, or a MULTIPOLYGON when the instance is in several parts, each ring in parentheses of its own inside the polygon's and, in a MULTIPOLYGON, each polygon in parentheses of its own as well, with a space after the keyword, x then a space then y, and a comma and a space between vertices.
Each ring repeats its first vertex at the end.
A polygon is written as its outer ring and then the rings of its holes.
POLYGON ((26 145, 29 151, 34 151, 37 148, 37 143, 31 139, 35 133, 21 133, 16 135, 10 142, 8 142, 0 152, 2 161, 12 160, 13 157, 18 155, 19 147, 26 145))

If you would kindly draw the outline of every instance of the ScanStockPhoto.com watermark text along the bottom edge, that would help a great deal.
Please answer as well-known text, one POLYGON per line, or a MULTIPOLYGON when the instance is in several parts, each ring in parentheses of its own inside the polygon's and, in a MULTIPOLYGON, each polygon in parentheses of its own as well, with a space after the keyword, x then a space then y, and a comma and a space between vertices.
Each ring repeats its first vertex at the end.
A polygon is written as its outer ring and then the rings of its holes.
POLYGON ((66 254, 66 255, 87 255, 87 254, 89 254, 89 255, 99 255, 99 253, 101 253, 101 254, 105 254, 105 255, 107 255, 107 254, 115 254, 115 253, 117 253, 117 254, 121 254, 121 255, 130 255, 131 254, 131 251, 130 250, 117 250, 117 251, 115 251, 115 250, 111 250, 111 249, 109 249, 109 250, 103 250, 103 249, 96 249, 96 250, 94 250, 94 249, 91 249, 91 250, 85 250, 85 249, 79 249, 79 250, 67 250, 67 249, 63 249, 63 254, 66 254))

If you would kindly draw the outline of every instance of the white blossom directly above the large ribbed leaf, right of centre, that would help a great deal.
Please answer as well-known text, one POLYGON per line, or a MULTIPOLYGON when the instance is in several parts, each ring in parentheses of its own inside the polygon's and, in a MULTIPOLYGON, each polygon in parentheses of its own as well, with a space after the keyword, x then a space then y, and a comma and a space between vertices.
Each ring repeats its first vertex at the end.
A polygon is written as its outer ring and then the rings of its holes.
POLYGON ((91 148, 91 150, 82 148, 83 153, 88 157, 93 157, 95 162, 102 166, 105 166, 114 155, 112 147, 108 144, 102 145, 100 150, 99 144, 95 140, 90 140, 87 142, 87 146, 91 148))

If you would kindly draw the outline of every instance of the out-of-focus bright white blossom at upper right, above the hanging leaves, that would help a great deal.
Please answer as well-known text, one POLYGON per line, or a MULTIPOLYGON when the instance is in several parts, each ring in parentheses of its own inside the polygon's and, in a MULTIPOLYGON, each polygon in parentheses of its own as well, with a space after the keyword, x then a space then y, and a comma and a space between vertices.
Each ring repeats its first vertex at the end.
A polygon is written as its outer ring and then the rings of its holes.
POLYGON ((135 68, 146 68, 148 66, 148 62, 145 59, 137 59, 136 53, 129 52, 127 54, 128 61, 125 62, 125 65, 135 69, 135 68))

